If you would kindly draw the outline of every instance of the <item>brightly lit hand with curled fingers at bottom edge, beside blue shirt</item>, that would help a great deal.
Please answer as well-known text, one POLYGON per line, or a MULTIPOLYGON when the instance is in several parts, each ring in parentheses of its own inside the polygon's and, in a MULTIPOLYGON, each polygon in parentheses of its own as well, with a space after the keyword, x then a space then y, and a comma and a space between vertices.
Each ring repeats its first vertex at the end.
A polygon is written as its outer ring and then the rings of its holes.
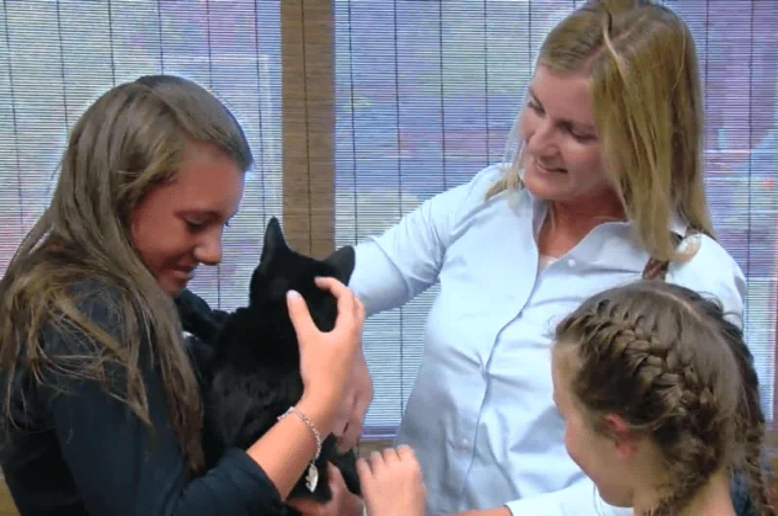
POLYGON ((356 471, 368 516, 424 516, 426 488, 411 447, 373 451, 356 471))

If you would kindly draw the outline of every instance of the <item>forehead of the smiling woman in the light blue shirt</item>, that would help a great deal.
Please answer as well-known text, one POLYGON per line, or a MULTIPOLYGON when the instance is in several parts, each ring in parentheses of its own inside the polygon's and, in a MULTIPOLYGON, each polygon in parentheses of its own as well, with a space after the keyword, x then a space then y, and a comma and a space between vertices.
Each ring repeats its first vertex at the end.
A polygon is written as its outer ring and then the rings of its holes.
POLYGON ((584 74, 562 74, 538 65, 530 87, 549 115, 581 125, 594 125, 591 79, 584 74))

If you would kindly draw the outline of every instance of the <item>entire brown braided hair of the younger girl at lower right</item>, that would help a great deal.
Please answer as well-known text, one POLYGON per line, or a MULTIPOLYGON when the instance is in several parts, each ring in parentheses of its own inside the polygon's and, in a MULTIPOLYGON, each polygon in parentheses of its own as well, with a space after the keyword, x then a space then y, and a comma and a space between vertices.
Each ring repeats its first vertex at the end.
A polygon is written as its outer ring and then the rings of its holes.
POLYGON ((716 303, 657 281, 608 290, 559 323, 554 352, 595 430, 616 414, 661 450, 668 484, 651 514, 676 514, 730 468, 748 472, 757 514, 774 514, 752 355, 716 303))

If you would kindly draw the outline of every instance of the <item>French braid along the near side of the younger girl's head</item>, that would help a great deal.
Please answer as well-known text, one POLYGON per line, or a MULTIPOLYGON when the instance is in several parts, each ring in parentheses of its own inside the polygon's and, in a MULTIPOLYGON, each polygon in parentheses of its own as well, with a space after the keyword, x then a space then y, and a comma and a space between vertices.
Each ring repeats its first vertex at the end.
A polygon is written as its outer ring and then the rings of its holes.
POLYGON ((682 508, 707 482, 699 472, 720 466, 724 441, 715 438, 713 394, 690 357, 679 352, 675 341, 657 338, 656 321, 630 315, 619 304, 603 301, 576 321, 584 337, 578 341, 578 353, 588 366, 574 378, 573 391, 596 414, 617 412, 633 429, 654 436, 666 456, 671 482, 665 486, 667 497, 647 516, 664 516, 682 508), (605 368, 622 374, 605 374, 605 368), (613 393, 621 393, 618 400, 613 393))

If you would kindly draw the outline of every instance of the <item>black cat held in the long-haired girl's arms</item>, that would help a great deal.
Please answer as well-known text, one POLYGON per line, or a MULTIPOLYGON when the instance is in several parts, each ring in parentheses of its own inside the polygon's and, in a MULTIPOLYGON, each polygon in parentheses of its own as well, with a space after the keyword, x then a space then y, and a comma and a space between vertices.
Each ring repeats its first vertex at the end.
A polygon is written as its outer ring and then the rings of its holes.
MULTIPOLYGON (((206 352, 202 348, 192 351, 204 393, 203 447, 208 468, 230 447, 246 449, 254 444, 303 394, 300 354, 286 309, 286 291, 300 292, 317 327, 329 331, 338 314, 335 298, 318 288, 314 277, 335 277, 347 284, 353 268, 351 246, 338 249, 326 260, 314 260, 289 249, 279 221, 273 217, 265 231, 260 263, 251 277, 247 307, 225 313, 209 309, 188 291, 177 298, 184 330, 210 345, 206 352)), ((328 461, 340 469, 349 490, 359 494, 356 455, 338 456, 335 436, 330 435, 316 461, 316 488, 313 492, 307 488, 303 474, 289 497, 329 500, 328 461)))

